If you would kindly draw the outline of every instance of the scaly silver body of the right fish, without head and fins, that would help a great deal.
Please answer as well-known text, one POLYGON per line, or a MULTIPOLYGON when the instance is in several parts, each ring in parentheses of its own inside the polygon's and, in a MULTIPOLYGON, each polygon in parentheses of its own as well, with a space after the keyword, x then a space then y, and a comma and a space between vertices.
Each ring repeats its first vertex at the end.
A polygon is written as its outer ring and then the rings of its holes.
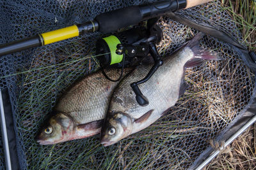
POLYGON ((184 64, 192 59, 192 57, 192 50, 188 47, 184 48, 182 52, 176 53, 172 58, 164 60, 163 66, 159 67, 147 82, 139 85, 141 92, 149 101, 149 104, 144 107, 141 107, 136 102, 130 84, 143 79, 151 66, 141 66, 134 70, 116 88, 111 99, 109 112, 122 111, 129 114, 132 118, 140 118, 148 111, 154 110, 151 117, 159 117, 167 109, 166 106, 173 106, 179 99, 184 64), (119 100, 115 98, 119 98, 119 100))

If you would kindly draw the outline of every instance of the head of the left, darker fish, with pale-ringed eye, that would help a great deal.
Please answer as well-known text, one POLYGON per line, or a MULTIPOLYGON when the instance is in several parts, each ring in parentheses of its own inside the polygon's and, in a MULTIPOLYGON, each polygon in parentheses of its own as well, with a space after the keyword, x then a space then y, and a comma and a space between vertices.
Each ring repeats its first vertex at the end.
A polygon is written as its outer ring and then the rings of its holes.
POLYGON ((40 145, 52 145, 72 138, 74 121, 63 113, 56 113, 45 120, 36 141, 40 145))

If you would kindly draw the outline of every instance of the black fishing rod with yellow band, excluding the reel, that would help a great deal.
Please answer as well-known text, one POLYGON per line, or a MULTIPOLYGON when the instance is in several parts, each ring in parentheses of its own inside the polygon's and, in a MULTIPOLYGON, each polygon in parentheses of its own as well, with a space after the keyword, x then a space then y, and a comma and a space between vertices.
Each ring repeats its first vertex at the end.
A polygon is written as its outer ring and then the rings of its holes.
MULTIPOLYGON (((138 24, 150 18, 160 17, 168 12, 190 8, 212 0, 170 0, 156 3, 129 6, 119 10, 97 15, 93 20, 83 24, 72 25, 55 31, 44 32, 31 38, 13 41, 0 46, 0 56, 7 55, 36 46, 49 45, 64 39, 81 36, 88 32, 99 31, 104 34, 117 31, 129 25, 138 24)), ((114 40, 115 41, 115 40, 114 40)))

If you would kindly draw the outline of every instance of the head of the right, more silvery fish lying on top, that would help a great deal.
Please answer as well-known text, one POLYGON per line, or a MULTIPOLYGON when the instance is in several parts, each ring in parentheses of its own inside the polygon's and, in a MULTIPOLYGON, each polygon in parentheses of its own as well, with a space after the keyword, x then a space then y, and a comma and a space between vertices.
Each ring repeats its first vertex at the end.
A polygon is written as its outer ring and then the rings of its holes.
POLYGON ((127 113, 115 113, 107 117, 100 134, 100 143, 104 146, 113 145, 132 132, 132 118, 127 113))

